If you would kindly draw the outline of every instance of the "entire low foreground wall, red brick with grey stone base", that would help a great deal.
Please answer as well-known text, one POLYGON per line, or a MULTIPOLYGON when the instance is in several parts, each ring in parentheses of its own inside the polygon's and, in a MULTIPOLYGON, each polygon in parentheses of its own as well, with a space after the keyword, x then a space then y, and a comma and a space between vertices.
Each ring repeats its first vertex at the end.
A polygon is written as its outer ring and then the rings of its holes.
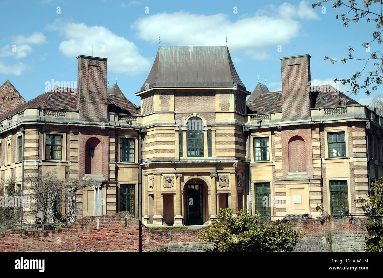
MULTIPOLYGON (((296 227, 307 235, 295 251, 328 251, 326 240, 331 231, 333 251, 363 251, 367 233, 361 219, 349 223, 347 218, 331 219, 320 224, 319 219, 295 220, 296 227)), ((275 222, 267 221, 269 225, 275 222)), ((204 251, 209 243, 198 241, 199 230, 150 230, 138 218, 126 212, 111 215, 85 216, 69 227, 59 230, 8 230, 0 235, 3 251, 204 251), (141 238, 141 242, 140 239, 141 238)))

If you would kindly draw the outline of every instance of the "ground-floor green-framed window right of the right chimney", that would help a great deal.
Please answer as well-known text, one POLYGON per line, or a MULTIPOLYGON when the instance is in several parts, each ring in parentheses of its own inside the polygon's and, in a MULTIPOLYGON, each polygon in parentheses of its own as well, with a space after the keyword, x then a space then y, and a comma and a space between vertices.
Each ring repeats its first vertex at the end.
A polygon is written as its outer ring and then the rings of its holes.
POLYGON ((344 209, 348 210, 349 197, 347 189, 347 181, 330 181, 330 200, 331 200, 331 216, 341 218, 344 215, 344 209))

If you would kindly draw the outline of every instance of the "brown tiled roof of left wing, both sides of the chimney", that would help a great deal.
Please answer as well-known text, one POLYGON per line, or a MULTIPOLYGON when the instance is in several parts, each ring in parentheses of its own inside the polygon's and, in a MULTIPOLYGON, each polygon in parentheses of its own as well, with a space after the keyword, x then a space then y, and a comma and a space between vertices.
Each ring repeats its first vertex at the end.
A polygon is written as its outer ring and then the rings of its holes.
MULTIPOLYGON (((137 115, 136 105, 128 100, 117 84, 107 89, 108 112, 137 115)), ((0 116, 0 120, 18 114, 26 108, 44 108, 53 110, 77 110, 77 89, 54 87, 53 89, 29 100, 23 105, 0 116)))

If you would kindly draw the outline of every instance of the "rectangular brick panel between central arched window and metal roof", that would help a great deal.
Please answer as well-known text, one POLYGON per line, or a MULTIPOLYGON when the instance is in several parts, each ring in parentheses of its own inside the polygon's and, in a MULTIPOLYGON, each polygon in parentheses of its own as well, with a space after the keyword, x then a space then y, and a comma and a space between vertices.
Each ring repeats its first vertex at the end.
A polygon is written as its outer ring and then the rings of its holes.
POLYGON ((174 94, 174 110, 182 111, 215 111, 215 92, 176 92, 174 94))

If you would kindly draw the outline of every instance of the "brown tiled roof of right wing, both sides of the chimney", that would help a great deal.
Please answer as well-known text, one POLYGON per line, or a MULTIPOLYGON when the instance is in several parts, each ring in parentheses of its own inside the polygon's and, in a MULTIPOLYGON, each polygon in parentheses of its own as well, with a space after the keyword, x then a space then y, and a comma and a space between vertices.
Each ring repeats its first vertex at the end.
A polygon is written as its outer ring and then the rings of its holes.
MULTIPOLYGON (((339 92, 331 85, 311 87, 311 98, 313 107, 334 107, 339 106, 342 98, 348 99, 348 102, 342 102, 342 105, 359 105, 358 102, 339 92)), ((248 106, 249 114, 278 113, 282 112, 282 92, 266 92, 261 94, 248 106)))

